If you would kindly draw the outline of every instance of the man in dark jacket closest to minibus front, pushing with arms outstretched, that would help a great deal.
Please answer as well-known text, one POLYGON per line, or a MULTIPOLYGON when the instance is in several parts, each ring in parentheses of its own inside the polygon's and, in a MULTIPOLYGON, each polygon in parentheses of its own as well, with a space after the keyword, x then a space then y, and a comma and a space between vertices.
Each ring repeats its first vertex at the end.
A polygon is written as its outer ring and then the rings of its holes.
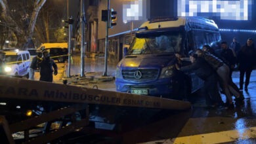
POLYGON ((217 74, 211 68, 211 66, 205 62, 203 58, 198 57, 197 54, 192 54, 190 56, 190 61, 192 65, 181 67, 180 71, 194 71, 194 73, 200 77, 204 82, 202 88, 203 94, 205 95, 206 104, 212 105, 212 103, 223 104, 221 100, 221 95, 219 94, 217 86, 217 74))

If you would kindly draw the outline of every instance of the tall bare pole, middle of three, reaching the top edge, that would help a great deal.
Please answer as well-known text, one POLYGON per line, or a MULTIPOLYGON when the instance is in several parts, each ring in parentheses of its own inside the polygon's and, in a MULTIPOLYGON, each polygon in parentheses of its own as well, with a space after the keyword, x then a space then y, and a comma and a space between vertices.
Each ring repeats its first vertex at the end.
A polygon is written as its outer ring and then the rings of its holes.
POLYGON ((85 11, 84 0, 80 0, 80 38, 81 38, 81 72, 80 77, 85 77, 85 11))

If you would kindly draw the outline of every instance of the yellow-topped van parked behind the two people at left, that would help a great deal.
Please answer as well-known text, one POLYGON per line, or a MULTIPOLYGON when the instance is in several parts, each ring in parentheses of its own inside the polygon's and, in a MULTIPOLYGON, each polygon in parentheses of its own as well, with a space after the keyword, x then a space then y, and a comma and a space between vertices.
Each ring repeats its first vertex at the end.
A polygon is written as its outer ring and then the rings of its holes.
POLYGON ((53 60, 61 63, 68 60, 68 43, 44 43, 37 50, 47 50, 53 60))

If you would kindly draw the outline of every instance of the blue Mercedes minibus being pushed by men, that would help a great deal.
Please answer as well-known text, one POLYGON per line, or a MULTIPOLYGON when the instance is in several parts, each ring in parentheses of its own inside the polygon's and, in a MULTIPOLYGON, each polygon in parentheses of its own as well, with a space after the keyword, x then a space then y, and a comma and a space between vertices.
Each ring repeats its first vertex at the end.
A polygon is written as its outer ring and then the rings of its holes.
POLYGON ((188 57, 190 50, 203 45, 217 48, 220 41, 212 20, 165 18, 145 22, 117 65, 116 90, 165 98, 188 96, 202 88, 203 81, 194 73, 180 75, 173 63, 175 52, 188 57))

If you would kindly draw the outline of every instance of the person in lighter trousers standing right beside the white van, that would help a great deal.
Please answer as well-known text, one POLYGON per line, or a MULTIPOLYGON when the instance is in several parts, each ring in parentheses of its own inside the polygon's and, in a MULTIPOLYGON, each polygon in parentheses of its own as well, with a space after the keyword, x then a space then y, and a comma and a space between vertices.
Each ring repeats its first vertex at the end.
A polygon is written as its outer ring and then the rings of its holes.
POLYGON ((42 58, 42 52, 37 52, 37 56, 33 57, 32 62, 30 63, 30 68, 29 68, 29 78, 30 80, 35 80, 35 71, 38 67, 37 63, 41 61, 40 59, 42 58))

